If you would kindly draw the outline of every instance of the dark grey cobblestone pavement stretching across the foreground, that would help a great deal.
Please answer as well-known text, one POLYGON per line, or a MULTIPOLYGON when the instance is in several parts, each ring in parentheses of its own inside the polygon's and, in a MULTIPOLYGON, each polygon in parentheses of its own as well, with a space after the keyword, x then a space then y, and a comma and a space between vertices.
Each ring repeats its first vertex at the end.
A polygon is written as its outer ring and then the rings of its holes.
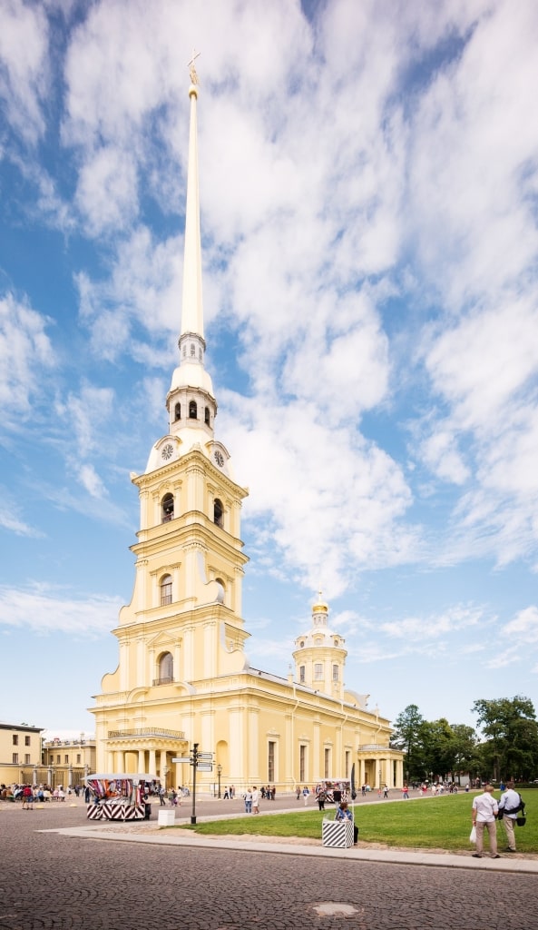
POLYGON ((538 930, 535 875, 47 832, 86 824, 83 804, 0 805, 0 930, 538 930))

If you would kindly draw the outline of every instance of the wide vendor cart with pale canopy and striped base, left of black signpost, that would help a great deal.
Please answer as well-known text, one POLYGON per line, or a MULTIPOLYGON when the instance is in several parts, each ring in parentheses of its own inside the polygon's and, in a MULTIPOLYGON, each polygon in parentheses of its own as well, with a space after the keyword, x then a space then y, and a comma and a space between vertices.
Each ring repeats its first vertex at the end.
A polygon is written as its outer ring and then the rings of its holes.
POLYGON ((151 794, 159 779, 145 772, 96 773, 85 783, 90 793, 86 816, 90 820, 147 820, 151 794))

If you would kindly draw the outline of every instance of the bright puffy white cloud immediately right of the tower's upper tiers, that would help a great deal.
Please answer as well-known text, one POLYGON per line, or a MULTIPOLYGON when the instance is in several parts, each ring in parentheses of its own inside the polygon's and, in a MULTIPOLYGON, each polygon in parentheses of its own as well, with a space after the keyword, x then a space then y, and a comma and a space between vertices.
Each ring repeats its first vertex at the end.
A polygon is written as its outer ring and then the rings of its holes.
POLYGON ((335 597, 359 566, 411 556, 413 529, 399 523, 409 489, 382 450, 330 419, 318 422, 303 402, 279 406, 227 392, 226 404, 219 430, 250 479, 245 517, 269 529, 287 572, 335 597))

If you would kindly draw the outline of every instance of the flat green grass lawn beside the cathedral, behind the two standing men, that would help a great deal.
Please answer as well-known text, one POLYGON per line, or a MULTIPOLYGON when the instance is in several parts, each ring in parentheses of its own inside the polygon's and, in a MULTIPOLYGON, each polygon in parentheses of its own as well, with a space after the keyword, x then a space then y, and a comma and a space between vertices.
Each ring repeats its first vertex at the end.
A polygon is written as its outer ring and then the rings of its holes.
MULTIPOLYGON (((518 852, 538 853, 538 790, 525 790, 527 823, 516 827, 518 852)), ((498 799, 498 792, 495 792, 498 799)), ((415 849, 468 849, 471 830, 473 793, 448 794, 438 798, 421 798, 398 804, 360 804, 355 808, 361 843, 382 843, 415 849)), ((332 811, 324 812, 333 817, 332 811)), ((258 836, 296 836, 321 840, 321 811, 297 811, 293 814, 236 817, 211 820, 175 829, 195 830, 219 836, 250 833, 258 836)), ((505 829, 497 825, 499 850, 505 847, 505 829)), ((487 840, 486 843, 487 845, 487 840)))

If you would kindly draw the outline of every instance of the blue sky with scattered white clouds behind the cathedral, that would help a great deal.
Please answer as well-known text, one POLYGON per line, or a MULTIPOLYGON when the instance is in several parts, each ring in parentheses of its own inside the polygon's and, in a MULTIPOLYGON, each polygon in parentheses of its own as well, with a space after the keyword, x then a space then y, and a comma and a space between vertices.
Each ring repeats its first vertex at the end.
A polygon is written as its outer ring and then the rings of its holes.
POLYGON ((250 661, 538 676, 538 7, 0 0, 0 719, 92 731, 177 365, 195 46, 206 365, 250 661))

